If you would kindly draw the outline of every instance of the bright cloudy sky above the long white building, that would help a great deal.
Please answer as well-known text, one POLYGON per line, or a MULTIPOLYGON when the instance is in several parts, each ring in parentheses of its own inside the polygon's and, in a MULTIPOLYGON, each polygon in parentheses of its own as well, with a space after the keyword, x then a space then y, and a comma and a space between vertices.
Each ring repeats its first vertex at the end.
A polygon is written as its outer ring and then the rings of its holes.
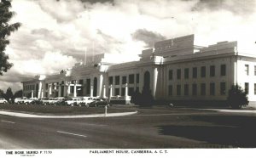
POLYGON ((256 0, 13 0, 11 22, 22 25, 9 37, 14 66, 0 89, 15 92, 28 77, 70 68, 85 50, 133 56, 190 34, 196 45, 238 41, 238 50, 256 54, 255 8, 256 0))

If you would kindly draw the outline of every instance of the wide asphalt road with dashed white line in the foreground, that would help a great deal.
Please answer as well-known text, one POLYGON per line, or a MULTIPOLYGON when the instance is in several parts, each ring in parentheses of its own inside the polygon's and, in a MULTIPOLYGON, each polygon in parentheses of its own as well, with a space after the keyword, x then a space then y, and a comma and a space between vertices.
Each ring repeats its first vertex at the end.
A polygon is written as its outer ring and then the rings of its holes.
POLYGON ((0 149, 256 147, 256 116, 191 109, 137 109, 101 118, 0 115, 0 149))

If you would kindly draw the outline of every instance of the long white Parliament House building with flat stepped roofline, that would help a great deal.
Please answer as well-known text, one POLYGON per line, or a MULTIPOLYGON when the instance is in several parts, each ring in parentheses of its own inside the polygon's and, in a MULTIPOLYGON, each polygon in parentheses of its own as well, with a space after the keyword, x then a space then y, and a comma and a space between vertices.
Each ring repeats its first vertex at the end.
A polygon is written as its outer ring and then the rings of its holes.
POLYGON ((130 99, 136 89, 142 92, 148 85, 156 100, 219 103, 227 98, 231 85, 238 83, 248 92, 250 104, 256 101, 256 56, 238 52, 237 42, 200 47, 194 45, 194 35, 189 35, 156 42, 137 60, 127 59, 131 58, 99 54, 86 59, 85 65, 22 82, 23 93, 38 98, 130 99))

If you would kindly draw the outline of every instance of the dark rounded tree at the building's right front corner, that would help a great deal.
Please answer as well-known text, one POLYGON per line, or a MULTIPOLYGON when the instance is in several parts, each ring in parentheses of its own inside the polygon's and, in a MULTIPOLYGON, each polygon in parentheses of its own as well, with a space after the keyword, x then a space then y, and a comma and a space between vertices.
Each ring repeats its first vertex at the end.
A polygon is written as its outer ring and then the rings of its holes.
POLYGON ((237 84, 232 85, 230 88, 227 101, 232 109, 241 109, 242 106, 246 106, 249 103, 247 92, 237 84))

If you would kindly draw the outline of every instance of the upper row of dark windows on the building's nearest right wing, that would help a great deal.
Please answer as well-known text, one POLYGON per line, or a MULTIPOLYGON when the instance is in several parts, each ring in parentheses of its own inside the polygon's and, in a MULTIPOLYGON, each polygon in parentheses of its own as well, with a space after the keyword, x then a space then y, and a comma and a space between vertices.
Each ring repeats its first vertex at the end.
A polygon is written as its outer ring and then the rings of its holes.
MULTIPOLYGON (((206 77, 207 76, 207 66, 201 66, 200 68, 201 71, 201 77, 206 77)), ((210 76, 216 76, 216 67, 215 65, 210 65, 209 67, 210 71, 210 76)), ((184 69, 184 79, 189 79, 189 68, 184 69)), ((181 69, 177 69, 176 71, 176 77, 177 79, 181 79, 182 73, 181 69)), ((226 76, 226 65, 220 65, 220 76, 226 76)), ((192 68, 192 77, 197 78, 198 77, 198 67, 193 67, 192 68)), ((169 80, 173 79, 173 70, 169 70, 169 80)))

